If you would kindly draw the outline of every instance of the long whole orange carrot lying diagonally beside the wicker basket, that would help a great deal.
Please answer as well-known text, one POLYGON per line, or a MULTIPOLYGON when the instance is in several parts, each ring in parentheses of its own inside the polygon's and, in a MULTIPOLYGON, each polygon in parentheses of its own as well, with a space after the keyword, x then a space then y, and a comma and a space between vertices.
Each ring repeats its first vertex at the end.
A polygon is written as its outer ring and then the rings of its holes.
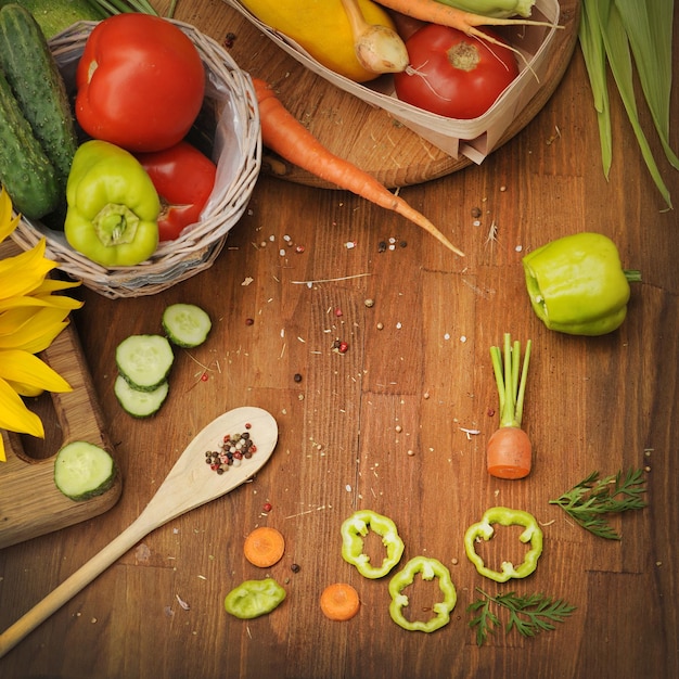
POLYGON ((452 245, 424 215, 420 214, 399 196, 394 195, 374 177, 325 149, 283 106, 273 90, 264 80, 254 78, 253 84, 259 103, 261 140, 266 146, 290 163, 312 172, 324 181, 332 182, 341 189, 351 191, 375 203, 380 207, 394 210, 406 217, 432 234, 453 253, 464 257, 464 253, 452 245))

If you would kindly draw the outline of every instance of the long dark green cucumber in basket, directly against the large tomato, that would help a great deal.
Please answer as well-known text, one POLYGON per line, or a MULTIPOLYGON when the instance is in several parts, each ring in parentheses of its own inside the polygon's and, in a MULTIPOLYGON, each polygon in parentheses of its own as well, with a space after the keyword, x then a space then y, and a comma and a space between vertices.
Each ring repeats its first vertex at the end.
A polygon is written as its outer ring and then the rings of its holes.
POLYGON ((33 14, 18 4, 0 9, 0 67, 64 193, 78 145, 75 119, 47 38, 33 14))

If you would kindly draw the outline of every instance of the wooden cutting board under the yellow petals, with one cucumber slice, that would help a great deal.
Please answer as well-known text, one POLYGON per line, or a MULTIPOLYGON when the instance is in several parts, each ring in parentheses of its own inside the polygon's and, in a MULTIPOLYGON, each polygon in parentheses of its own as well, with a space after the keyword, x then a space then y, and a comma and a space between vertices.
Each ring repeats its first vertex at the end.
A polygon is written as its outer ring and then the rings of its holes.
MULTIPOLYGON (((0 259, 18 252, 0 244, 0 259)), ((77 332, 69 324, 40 356, 73 392, 28 399, 40 414, 53 408, 57 426, 44 440, 2 431, 7 462, 0 462, 0 549, 92 518, 111 509, 120 497, 121 482, 105 494, 74 502, 54 485, 54 456, 73 440, 87 440, 113 451, 77 332)), ((47 422, 46 418, 42 418, 47 422)))

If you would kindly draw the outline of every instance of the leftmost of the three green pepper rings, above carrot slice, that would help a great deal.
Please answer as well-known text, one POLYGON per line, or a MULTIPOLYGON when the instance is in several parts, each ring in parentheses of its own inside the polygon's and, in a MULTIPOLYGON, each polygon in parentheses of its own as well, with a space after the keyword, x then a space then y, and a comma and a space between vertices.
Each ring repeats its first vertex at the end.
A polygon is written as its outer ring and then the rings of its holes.
POLYGON ((398 535, 396 524, 386 516, 370 510, 354 512, 342 524, 342 558, 367 578, 375 579, 385 576, 399 561, 403 553, 403 541, 398 535), (363 538, 372 528, 386 548, 382 564, 373 566, 370 556, 363 553, 363 538))

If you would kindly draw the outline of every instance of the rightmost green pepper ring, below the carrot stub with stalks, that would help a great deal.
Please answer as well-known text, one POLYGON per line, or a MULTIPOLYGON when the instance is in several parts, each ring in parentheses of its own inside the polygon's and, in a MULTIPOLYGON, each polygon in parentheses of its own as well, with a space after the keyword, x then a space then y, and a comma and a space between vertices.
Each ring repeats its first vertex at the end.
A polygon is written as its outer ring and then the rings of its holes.
POLYGON ((467 559, 476 566, 476 571, 496 582, 507 582, 510 578, 525 578, 538 567, 538 559, 542 553, 542 529, 533 514, 522 510, 508 509, 507 507, 494 507, 486 511, 478 523, 472 524, 464 534, 464 551, 467 559), (525 530, 518 536, 522 542, 530 542, 530 549, 526 552, 524 561, 514 566, 509 561, 502 562, 502 571, 494 571, 484 564, 484 560, 476 553, 474 543, 476 539, 489 540, 495 529, 494 524, 500 526, 525 526, 525 530))

